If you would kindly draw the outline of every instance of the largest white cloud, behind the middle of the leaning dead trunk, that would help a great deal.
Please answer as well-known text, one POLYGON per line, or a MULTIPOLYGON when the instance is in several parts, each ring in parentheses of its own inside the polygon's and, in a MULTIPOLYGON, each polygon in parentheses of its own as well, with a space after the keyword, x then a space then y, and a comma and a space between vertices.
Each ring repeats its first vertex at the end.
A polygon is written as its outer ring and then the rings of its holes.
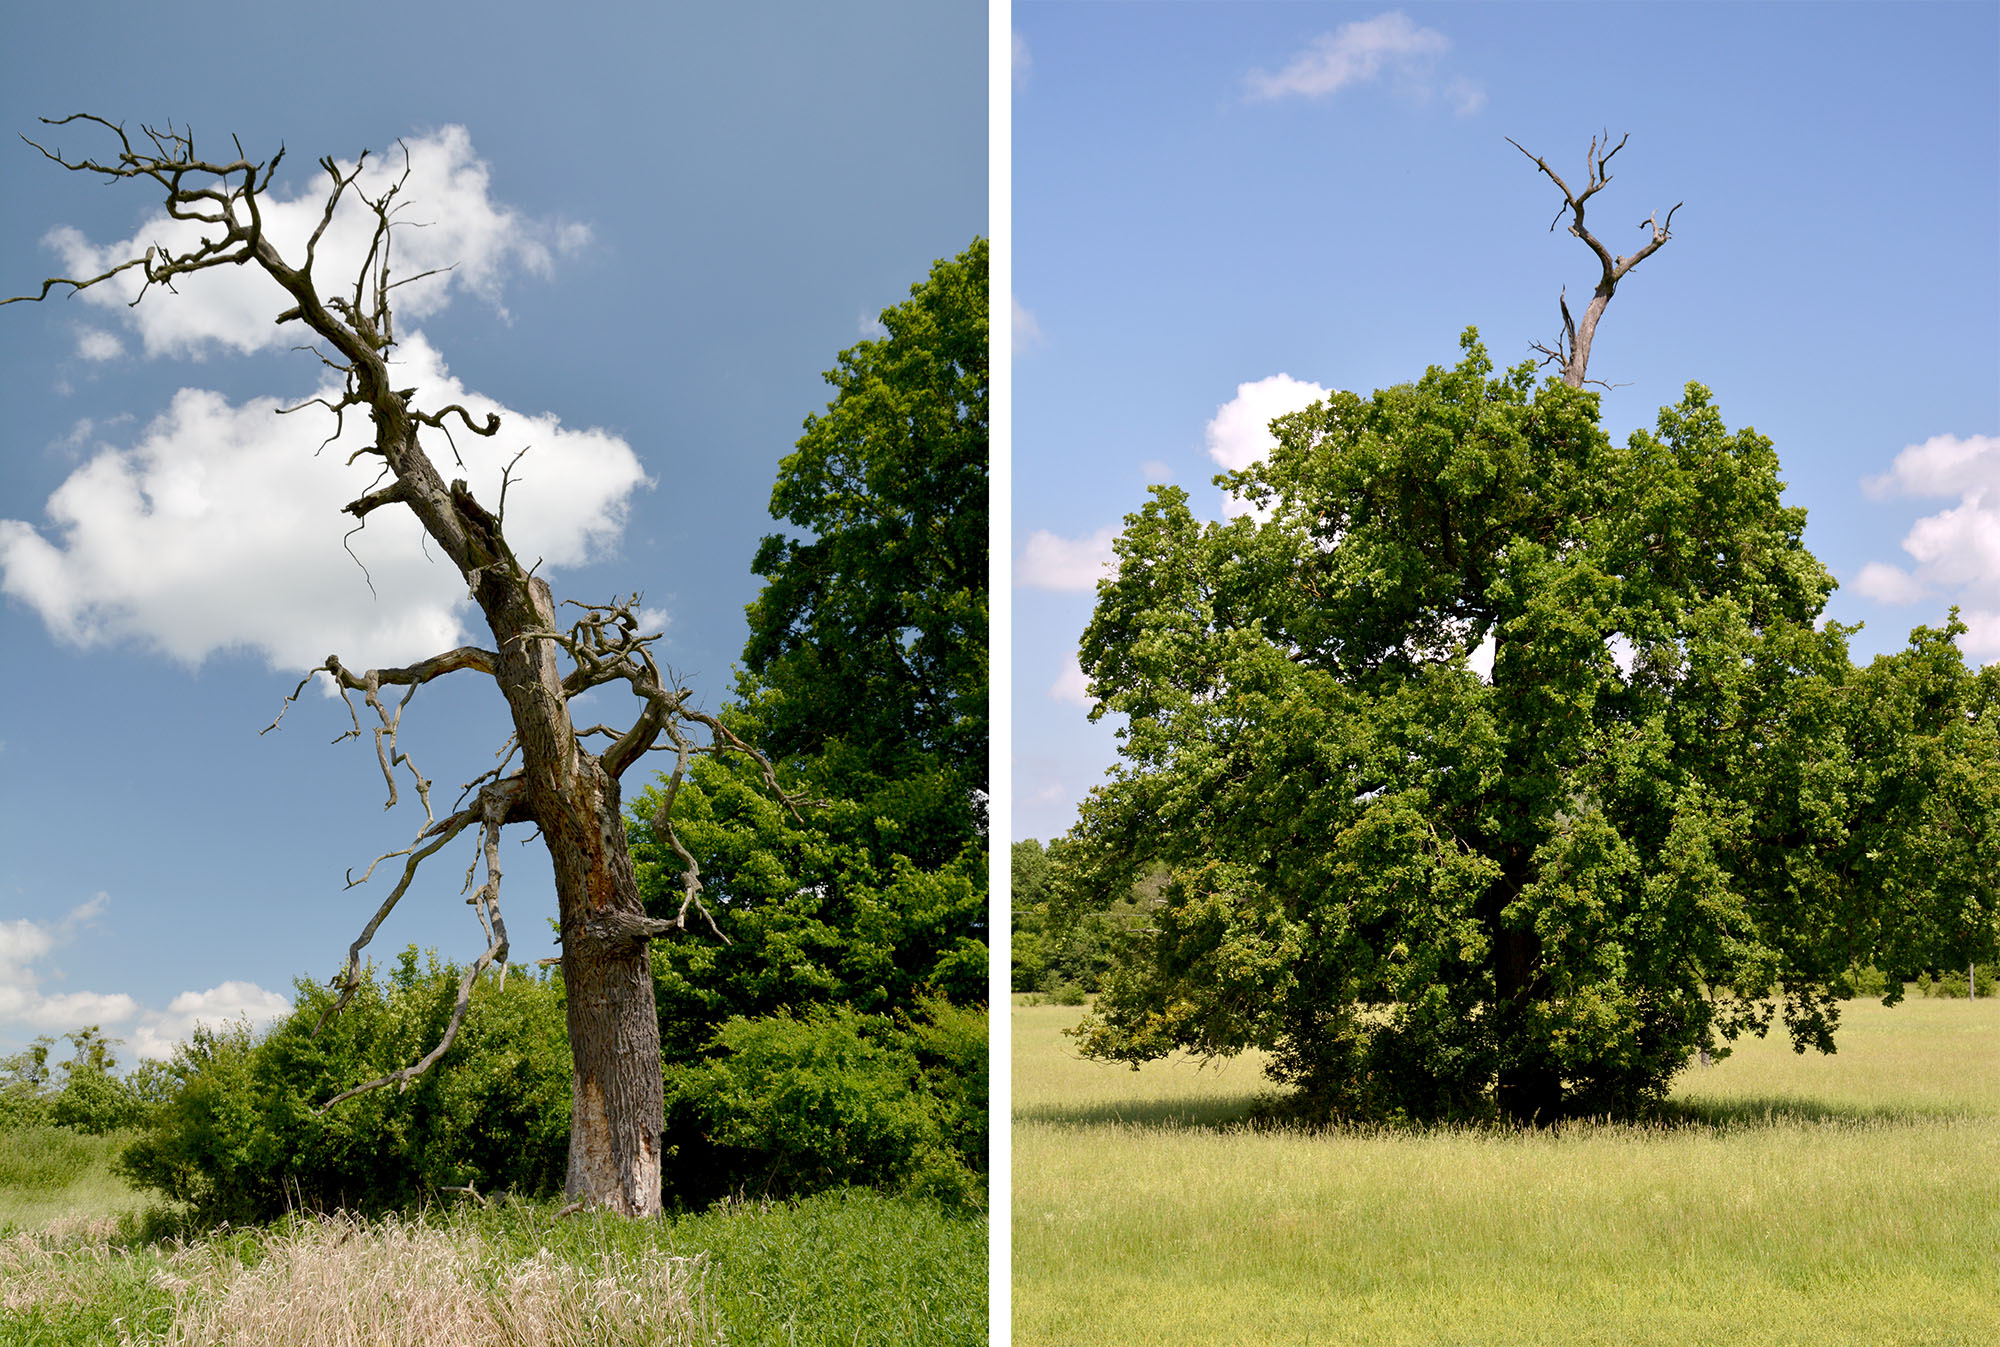
MULTIPOLYGON (((506 498, 508 538, 524 562, 576 566, 618 538, 644 482, 624 440, 502 408, 452 378, 422 334, 396 358, 418 406, 500 414, 498 436, 456 436, 462 470, 442 434, 426 438, 440 472, 464 476, 488 510, 500 504, 502 466, 528 446, 506 498)), ((332 384, 318 392, 336 398, 332 384)), ((426 556, 408 510, 368 516, 346 540, 352 558, 342 546, 354 520, 340 506, 376 480, 372 456, 346 462, 370 440, 366 420, 350 412, 320 450, 332 416, 278 416, 278 406, 176 394, 132 448, 102 448, 56 488, 44 528, 0 520, 0 592, 70 646, 130 642, 190 666, 246 650, 284 670, 330 652, 368 668, 464 644, 464 582, 436 548, 426 556)))

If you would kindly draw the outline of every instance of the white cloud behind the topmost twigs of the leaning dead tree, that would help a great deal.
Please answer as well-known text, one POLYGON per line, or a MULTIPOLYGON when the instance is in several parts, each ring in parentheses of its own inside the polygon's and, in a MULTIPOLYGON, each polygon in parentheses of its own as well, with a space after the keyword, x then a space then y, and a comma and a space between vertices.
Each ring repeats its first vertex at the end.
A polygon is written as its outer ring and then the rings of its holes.
MULTIPOLYGON (((396 290, 396 318, 402 322, 436 314, 460 290, 486 300, 504 316, 500 292, 508 276, 546 276, 556 256, 590 242, 586 224, 534 220, 492 200, 490 172, 474 154, 464 126, 410 136, 402 146, 370 154, 358 186, 380 196, 402 176, 406 164, 410 178, 398 198, 396 220, 408 228, 392 232, 390 280, 436 274, 396 290)), ((352 162, 340 164, 344 174, 352 168, 352 162)), ((300 174, 290 194, 272 190, 262 198, 264 238, 294 266, 304 264, 306 240, 320 224, 326 182, 322 172, 300 174)), ((372 226, 374 216, 354 194, 344 196, 314 250, 312 276, 322 294, 338 294, 354 284, 368 256, 372 226)), ((190 250, 204 232, 220 234, 216 226, 172 220, 162 210, 118 242, 92 244, 72 226, 50 230, 42 242, 62 258, 66 274, 96 276, 142 256, 152 244, 172 252, 190 250)), ((256 266, 222 266, 184 276, 176 282, 178 294, 154 286, 146 292, 146 302, 132 308, 142 288, 144 278, 132 270, 78 292, 78 298, 134 330, 148 356, 202 356, 216 346, 238 352, 284 350, 304 340, 296 324, 272 322, 280 310, 290 308, 290 296, 256 266)))

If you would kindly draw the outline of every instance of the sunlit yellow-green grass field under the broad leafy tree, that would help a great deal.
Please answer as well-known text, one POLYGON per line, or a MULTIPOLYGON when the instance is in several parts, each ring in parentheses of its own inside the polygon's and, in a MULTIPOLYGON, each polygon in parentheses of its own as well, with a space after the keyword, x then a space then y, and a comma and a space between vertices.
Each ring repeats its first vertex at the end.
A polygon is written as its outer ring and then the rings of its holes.
POLYGON ((1690 1069, 1710 1125, 1232 1125, 1258 1061, 1014 1009, 1014 1343, 2000 1343, 2000 1001, 1690 1069))

